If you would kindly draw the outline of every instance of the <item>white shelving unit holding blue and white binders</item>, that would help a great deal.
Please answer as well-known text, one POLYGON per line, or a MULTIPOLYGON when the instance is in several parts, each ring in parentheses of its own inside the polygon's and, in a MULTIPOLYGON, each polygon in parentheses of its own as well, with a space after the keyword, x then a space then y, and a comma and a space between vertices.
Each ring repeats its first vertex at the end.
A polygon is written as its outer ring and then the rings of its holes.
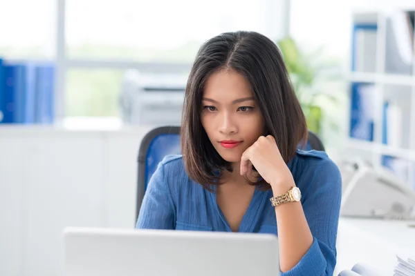
POLYGON ((415 5, 352 21, 347 148, 415 189, 415 5))

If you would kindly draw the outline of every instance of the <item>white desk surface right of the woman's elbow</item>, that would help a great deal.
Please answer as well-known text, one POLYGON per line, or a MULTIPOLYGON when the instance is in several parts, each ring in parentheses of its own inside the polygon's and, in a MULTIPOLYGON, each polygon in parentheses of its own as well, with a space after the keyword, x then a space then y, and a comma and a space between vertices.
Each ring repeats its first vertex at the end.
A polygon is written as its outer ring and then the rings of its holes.
POLYGON ((392 275, 396 255, 415 258, 415 221, 351 219, 342 217, 338 230, 338 266, 336 271, 351 269, 360 262, 392 275))

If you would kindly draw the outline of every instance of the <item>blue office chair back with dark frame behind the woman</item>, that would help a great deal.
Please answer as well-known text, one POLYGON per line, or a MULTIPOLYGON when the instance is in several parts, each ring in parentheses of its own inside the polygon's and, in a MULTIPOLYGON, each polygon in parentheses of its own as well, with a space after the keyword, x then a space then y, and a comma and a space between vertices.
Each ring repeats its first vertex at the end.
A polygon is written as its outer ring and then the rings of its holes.
MULTIPOLYGON (((315 133, 308 131, 308 150, 322 150, 324 146, 315 133)), ((147 184, 156 170, 158 163, 166 155, 180 155, 180 126, 160 126, 150 130, 143 137, 138 152, 138 182, 137 182, 137 201, 136 219, 140 211, 142 198, 144 197, 147 184)))

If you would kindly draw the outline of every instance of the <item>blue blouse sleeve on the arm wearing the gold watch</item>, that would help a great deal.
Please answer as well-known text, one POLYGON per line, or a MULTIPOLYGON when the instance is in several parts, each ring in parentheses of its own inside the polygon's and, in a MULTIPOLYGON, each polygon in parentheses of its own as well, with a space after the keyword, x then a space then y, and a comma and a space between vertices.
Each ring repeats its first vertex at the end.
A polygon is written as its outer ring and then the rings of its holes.
POLYGON ((284 276, 332 276, 336 264, 336 239, 342 197, 338 166, 330 159, 315 169, 302 204, 313 244, 299 263, 284 276))

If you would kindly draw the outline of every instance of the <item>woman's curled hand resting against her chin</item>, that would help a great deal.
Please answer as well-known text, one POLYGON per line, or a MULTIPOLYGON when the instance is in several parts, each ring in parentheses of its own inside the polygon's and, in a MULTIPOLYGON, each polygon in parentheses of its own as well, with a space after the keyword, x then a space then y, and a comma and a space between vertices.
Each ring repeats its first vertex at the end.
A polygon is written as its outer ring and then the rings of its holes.
POLYGON ((255 166, 259 175, 270 184, 273 190, 281 187, 288 190, 295 185, 293 175, 279 152, 277 142, 271 135, 259 137, 243 152, 241 175, 251 175, 252 166, 255 166))

